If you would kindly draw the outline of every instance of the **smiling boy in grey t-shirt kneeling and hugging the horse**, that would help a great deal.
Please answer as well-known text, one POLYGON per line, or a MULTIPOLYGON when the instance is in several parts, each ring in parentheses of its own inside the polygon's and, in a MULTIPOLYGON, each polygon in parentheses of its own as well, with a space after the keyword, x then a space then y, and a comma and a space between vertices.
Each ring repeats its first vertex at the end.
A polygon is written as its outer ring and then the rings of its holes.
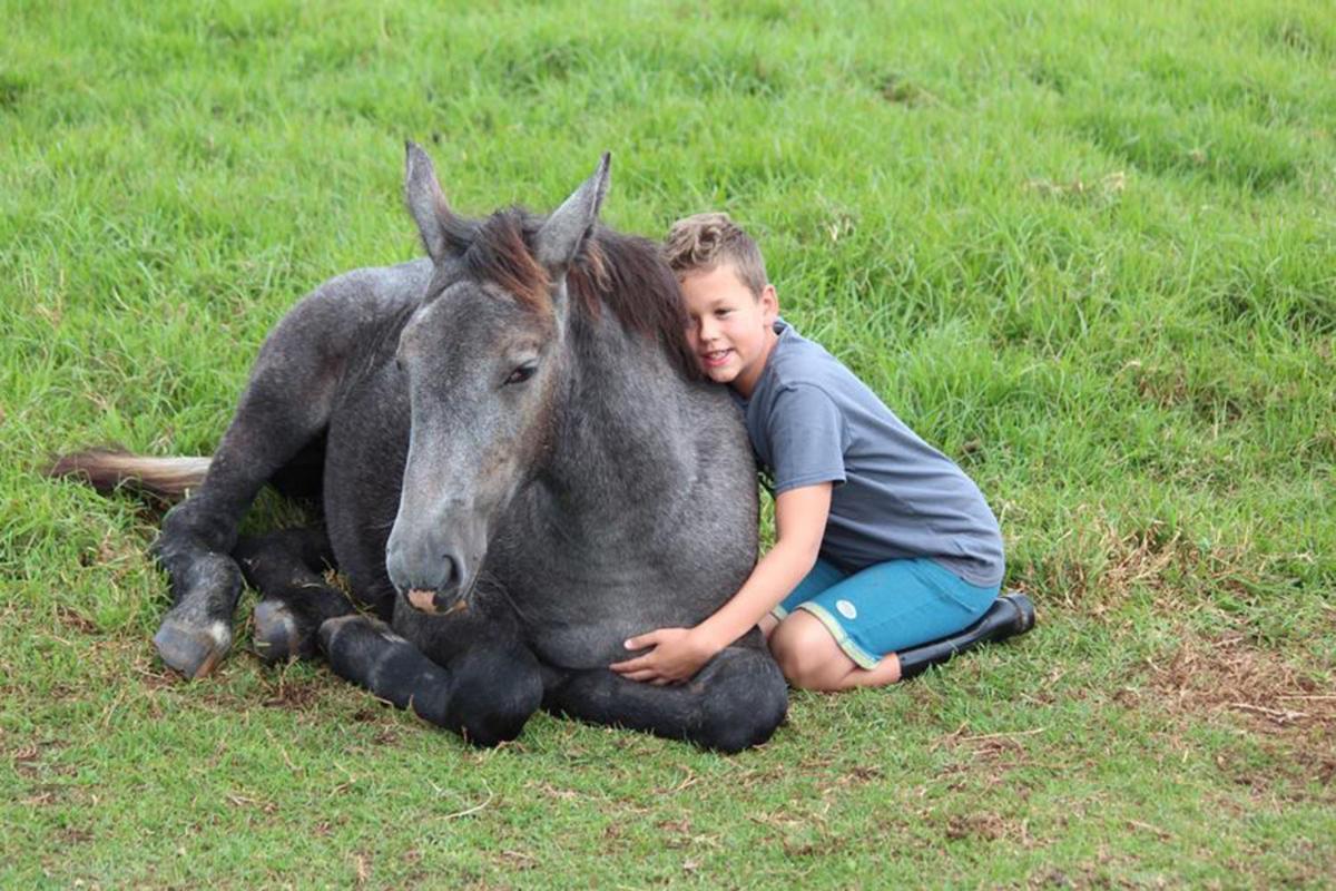
POLYGON ((998 598, 1002 536, 978 486, 779 318, 756 243, 701 214, 665 252, 701 369, 732 387, 771 476, 776 541, 719 612, 632 637, 627 649, 648 652, 612 669, 684 681, 759 624, 794 687, 839 691, 1027 631, 1029 601, 998 598))

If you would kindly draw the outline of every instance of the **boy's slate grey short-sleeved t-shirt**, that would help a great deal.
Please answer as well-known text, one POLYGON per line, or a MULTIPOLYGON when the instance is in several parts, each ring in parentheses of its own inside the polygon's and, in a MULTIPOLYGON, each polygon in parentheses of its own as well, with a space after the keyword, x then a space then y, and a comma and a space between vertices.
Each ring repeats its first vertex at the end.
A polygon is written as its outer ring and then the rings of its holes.
POLYGON ((822 557, 844 570, 931 557, 1002 582, 1002 533, 974 481, 923 442, 835 357, 786 322, 749 399, 733 391, 767 484, 834 482, 822 557))

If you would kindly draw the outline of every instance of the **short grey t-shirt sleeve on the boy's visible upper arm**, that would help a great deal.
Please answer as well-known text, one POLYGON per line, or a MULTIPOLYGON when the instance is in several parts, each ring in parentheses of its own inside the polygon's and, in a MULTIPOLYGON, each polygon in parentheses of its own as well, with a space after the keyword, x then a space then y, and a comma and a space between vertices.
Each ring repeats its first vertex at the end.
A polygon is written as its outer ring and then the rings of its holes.
POLYGON ((844 482, 844 418, 820 389, 783 389, 775 397, 767 433, 776 496, 818 482, 844 482))

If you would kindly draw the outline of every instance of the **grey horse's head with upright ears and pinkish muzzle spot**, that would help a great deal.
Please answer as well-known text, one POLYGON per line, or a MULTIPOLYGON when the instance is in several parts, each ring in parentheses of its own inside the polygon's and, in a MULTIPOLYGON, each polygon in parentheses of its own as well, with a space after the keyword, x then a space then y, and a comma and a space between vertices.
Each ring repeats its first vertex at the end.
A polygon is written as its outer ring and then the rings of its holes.
POLYGON ((493 528, 550 443, 566 270, 608 190, 608 156, 537 226, 520 211, 456 216, 413 144, 405 180, 436 275, 399 337, 411 433, 386 568, 411 606, 446 612, 466 602, 493 528))

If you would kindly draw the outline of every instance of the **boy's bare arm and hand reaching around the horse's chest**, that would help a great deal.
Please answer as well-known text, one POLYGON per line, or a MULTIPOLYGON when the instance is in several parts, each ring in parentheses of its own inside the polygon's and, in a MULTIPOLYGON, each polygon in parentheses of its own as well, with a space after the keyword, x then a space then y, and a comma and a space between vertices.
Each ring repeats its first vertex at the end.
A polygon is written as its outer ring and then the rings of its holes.
POLYGON ((775 498, 775 546, 727 604, 695 628, 660 628, 627 641, 627 649, 652 649, 611 668, 624 677, 655 684, 683 681, 715 653, 745 635, 811 572, 830 516, 831 484, 783 492, 775 498))

